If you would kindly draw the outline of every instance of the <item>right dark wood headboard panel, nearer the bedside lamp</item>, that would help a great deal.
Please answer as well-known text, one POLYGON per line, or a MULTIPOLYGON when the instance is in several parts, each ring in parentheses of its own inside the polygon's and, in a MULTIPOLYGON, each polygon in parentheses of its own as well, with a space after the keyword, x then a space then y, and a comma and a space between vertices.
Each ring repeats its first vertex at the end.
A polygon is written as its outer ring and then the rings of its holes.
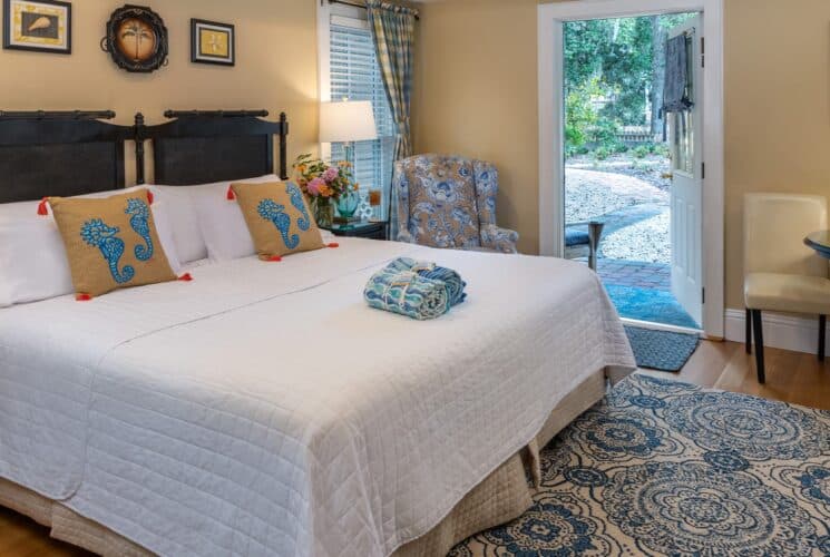
MULTIPOLYGON (((139 144, 153 140, 156 184, 185 186, 279 173, 287 178, 285 113, 266 121, 265 110, 168 110, 172 121, 145 126, 136 116, 139 144), (274 136, 279 168, 274 168, 274 136)), ((140 158, 139 154, 139 168, 140 158)), ((144 173, 138 175, 144 183, 144 173)))

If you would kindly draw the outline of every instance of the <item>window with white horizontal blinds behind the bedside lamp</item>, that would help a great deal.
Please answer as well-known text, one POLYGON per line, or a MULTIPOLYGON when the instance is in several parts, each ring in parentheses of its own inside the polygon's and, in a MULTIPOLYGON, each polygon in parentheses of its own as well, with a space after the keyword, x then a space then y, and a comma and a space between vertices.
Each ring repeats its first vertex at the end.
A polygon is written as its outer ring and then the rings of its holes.
MULTIPOLYGON (((330 22, 330 86, 332 100, 371 100, 378 139, 354 144, 354 175, 361 189, 362 216, 370 216, 370 189, 383 190, 381 217, 387 216, 388 192, 392 182, 396 125, 383 88, 369 23, 365 20, 332 16, 330 22)), ((333 144, 332 160, 344 158, 343 145, 333 144)))

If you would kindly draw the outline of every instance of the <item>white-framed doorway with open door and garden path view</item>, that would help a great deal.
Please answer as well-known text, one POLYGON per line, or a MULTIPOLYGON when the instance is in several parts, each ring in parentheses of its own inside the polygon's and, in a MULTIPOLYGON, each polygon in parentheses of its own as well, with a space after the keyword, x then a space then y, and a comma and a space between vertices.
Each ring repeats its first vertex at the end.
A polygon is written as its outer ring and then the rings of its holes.
POLYGON ((604 222, 597 271, 621 314, 710 338, 723 334, 722 9, 721 0, 539 7, 543 255, 585 257, 574 253, 574 232, 604 222), (611 62, 597 70, 597 36, 568 41, 572 29, 609 32, 611 62), (666 107, 654 87, 652 55, 673 39, 690 62, 683 109, 666 107), (629 48, 637 41, 650 47, 642 58, 629 48), (567 67, 574 59, 585 67, 567 67), (575 129, 579 118, 587 129, 575 129), (662 319, 667 306, 674 319, 662 319))

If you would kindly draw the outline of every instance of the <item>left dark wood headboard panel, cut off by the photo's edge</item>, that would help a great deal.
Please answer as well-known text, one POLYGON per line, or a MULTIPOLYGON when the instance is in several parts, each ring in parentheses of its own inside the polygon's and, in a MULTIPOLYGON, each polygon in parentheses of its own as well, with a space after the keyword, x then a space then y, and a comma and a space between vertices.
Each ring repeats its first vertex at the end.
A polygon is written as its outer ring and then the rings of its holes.
POLYGON ((0 203, 124 187, 133 126, 111 110, 0 111, 0 203))

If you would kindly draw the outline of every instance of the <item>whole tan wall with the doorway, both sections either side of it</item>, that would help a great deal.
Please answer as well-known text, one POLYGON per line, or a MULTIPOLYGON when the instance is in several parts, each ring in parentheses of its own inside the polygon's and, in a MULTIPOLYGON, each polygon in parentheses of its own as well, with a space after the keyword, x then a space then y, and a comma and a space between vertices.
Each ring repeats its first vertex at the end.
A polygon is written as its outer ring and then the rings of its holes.
MULTIPOLYGON (((490 158, 500 219, 538 250, 536 6, 445 0, 421 8, 416 148, 490 158)), ((725 0, 726 305, 743 307, 742 197, 830 197, 830 1, 725 0)))

